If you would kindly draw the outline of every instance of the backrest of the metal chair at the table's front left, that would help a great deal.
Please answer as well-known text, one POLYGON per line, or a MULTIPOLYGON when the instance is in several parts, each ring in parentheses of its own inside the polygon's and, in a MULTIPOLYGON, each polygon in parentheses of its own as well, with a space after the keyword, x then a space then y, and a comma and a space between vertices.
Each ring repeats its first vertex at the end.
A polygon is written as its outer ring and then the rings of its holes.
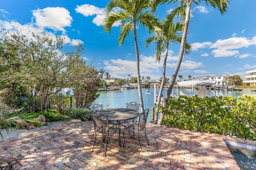
POLYGON ((106 130, 108 130, 108 117, 95 111, 92 113, 92 120, 94 122, 96 132, 103 133, 103 134, 107 133, 106 130))

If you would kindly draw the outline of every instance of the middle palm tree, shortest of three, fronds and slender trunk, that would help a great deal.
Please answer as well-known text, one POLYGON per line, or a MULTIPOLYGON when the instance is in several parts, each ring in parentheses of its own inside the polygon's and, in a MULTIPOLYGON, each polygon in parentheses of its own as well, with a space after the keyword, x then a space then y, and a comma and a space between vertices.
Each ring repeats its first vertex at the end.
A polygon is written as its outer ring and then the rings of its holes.
MULTIPOLYGON (((166 61, 168 57, 168 51, 169 51, 169 45, 170 43, 173 44, 178 44, 181 42, 181 31, 183 29, 183 24, 178 22, 176 25, 173 23, 169 25, 170 27, 165 27, 165 21, 162 23, 162 31, 156 32, 154 36, 149 37, 146 39, 146 47, 148 47, 148 44, 152 41, 155 41, 156 44, 156 62, 160 62, 161 55, 165 51, 164 55, 164 63, 163 63, 163 73, 162 73, 162 81, 159 89, 159 94, 157 98, 156 104, 159 105, 162 97, 162 92, 164 89, 164 84, 165 84, 165 73, 166 73, 166 61)), ((189 43, 186 43, 186 49, 185 53, 189 54, 191 51, 191 45, 189 43)), ((156 107, 156 114, 154 117, 157 122, 158 120, 158 107, 156 107)))

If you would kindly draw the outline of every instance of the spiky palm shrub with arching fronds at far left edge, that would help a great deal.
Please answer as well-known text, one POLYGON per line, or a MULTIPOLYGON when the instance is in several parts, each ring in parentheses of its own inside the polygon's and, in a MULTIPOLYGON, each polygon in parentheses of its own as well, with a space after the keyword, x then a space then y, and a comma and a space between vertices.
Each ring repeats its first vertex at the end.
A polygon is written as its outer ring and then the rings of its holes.
MULTIPOLYGON (((14 109, 8 107, 3 101, 4 98, 1 96, 4 94, 6 90, 0 91, 0 127, 6 129, 7 133, 9 133, 9 129, 12 127, 16 127, 18 123, 33 123, 37 127, 41 127, 41 123, 36 121, 35 119, 38 118, 40 115, 39 113, 31 113, 28 110, 23 108, 14 109)), ((3 139, 2 133, 0 131, 0 136, 3 139)))

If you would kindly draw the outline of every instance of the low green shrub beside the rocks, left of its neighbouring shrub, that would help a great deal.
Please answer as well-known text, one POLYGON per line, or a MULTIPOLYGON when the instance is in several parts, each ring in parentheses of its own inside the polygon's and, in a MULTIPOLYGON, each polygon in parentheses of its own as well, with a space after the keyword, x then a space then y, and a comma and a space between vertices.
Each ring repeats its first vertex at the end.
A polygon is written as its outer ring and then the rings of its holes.
POLYGON ((59 113, 56 109, 48 109, 47 112, 42 113, 45 116, 46 122, 54 122, 54 121, 68 121, 70 120, 65 115, 59 113))

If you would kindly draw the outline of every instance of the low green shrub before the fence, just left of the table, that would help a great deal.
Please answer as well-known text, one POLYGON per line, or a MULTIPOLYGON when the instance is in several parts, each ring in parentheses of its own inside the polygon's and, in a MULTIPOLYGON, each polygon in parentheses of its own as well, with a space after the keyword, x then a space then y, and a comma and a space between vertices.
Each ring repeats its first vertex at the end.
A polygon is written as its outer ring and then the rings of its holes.
POLYGON ((68 109, 65 114, 71 119, 80 119, 81 121, 92 120, 91 111, 89 109, 68 109))

